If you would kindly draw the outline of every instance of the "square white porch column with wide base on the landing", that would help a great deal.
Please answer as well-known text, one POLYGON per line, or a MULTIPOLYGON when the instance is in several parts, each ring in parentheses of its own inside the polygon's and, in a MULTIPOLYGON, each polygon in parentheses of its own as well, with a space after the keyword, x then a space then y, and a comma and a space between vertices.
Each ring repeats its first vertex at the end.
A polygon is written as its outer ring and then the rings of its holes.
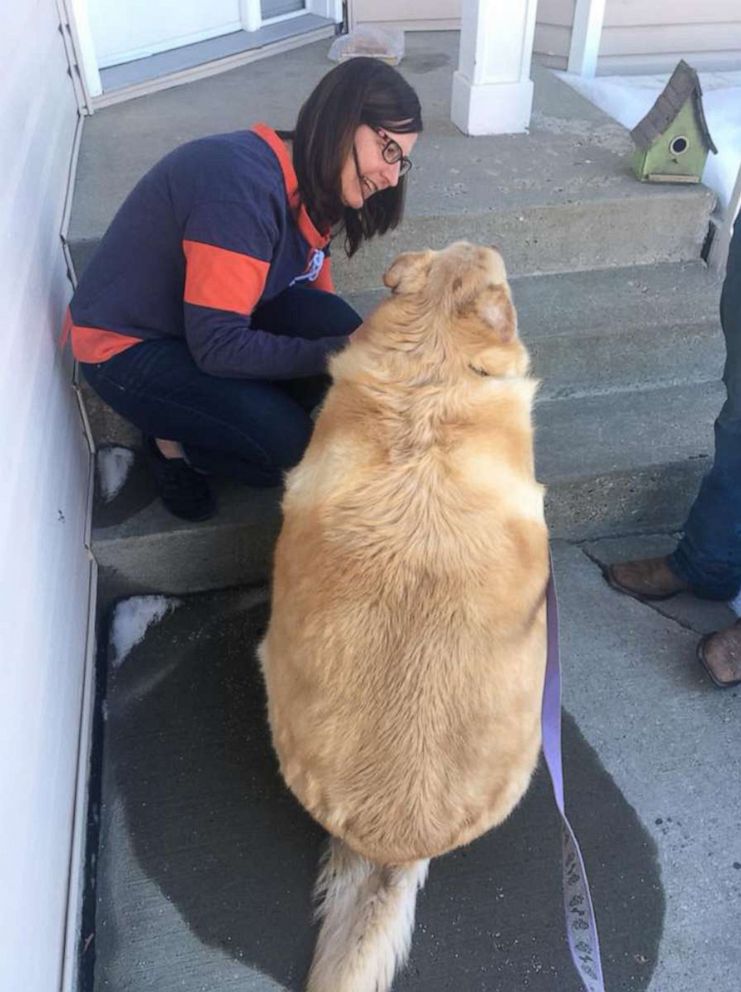
POLYGON ((463 0, 451 118, 466 134, 526 131, 537 0, 463 0))

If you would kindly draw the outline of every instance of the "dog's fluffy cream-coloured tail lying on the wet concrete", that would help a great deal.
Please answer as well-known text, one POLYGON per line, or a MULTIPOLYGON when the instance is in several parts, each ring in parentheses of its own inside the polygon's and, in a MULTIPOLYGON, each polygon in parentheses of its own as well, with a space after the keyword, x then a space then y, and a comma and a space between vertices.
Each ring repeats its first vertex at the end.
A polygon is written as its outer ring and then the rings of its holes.
POLYGON ((307 992, 388 992, 409 954, 428 865, 377 865, 330 840, 316 885, 323 922, 307 992))

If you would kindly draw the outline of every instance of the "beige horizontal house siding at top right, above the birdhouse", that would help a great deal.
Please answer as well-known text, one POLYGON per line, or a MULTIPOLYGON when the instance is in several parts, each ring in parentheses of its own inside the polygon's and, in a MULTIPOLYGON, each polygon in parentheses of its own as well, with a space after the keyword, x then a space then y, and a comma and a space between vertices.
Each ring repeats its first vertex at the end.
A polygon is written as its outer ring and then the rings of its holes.
POLYGON ((741 0, 607 0, 597 72, 741 68, 741 0))

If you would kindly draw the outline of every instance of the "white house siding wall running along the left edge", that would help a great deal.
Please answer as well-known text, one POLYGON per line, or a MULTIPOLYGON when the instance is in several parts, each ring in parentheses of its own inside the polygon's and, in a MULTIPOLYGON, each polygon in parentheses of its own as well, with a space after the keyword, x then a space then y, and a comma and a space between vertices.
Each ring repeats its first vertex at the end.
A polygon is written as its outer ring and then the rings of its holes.
POLYGON ((54 0, 0 7, 0 989, 60 986, 90 566, 89 455, 56 345, 77 111, 54 0))

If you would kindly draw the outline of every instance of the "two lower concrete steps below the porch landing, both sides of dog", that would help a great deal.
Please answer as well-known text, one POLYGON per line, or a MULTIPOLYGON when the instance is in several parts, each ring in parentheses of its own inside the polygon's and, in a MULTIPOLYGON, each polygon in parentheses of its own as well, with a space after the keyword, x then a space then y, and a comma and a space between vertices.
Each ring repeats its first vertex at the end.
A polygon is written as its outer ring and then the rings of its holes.
MULTIPOLYGON (((722 401, 716 280, 696 262, 526 277, 513 290, 542 380, 537 465, 554 537, 680 526, 707 469, 722 401)), ((351 301, 368 313, 381 295, 351 301)), ((138 445, 114 414, 94 422, 105 443, 138 445)), ((218 495, 213 520, 187 524, 161 507, 143 469, 132 473, 96 514, 105 596, 265 578, 279 492, 224 483, 218 495)))

